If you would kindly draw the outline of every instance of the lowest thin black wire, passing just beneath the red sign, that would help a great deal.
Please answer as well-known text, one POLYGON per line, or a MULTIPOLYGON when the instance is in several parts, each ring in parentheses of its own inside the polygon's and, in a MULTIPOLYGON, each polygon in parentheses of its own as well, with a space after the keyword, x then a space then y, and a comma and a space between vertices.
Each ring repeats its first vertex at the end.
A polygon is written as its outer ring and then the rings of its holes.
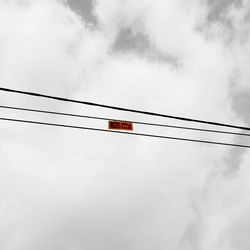
POLYGON ((129 132, 121 132, 121 131, 99 129, 99 128, 92 128, 92 127, 81 127, 81 126, 73 126, 73 125, 58 124, 58 123, 48 123, 48 122, 22 120, 22 119, 12 119, 12 118, 6 118, 6 117, 0 117, 0 120, 11 121, 11 122, 20 122, 20 123, 29 123, 29 124, 39 124, 39 125, 62 127, 62 128, 73 128, 73 129, 92 130, 92 131, 107 132, 107 133, 126 134, 126 135, 134 135, 134 136, 144 136, 144 137, 152 137, 152 138, 160 138, 160 139, 168 139, 168 140, 176 140, 176 141, 188 141, 188 142, 196 142, 196 143, 206 143, 206 144, 221 145, 221 146, 250 148, 250 145, 232 144, 232 143, 224 143, 224 142, 217 142, 217 141, 207 141, 207 140, 196 140, 196 139, 189 139, 189 138, 182 138, 182 137, 171 137, 171 136, 143 134, 143 133, 129 133, 129 132))

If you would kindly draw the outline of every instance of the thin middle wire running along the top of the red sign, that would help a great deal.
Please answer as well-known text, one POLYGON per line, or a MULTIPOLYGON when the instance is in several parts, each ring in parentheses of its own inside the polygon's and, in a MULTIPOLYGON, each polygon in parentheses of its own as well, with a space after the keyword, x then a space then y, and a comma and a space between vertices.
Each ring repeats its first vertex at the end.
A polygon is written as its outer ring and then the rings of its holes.
MULTIPOLYGON (((72 114, 72 113, 65 113, 65 112, 55 112, 55 111, 40 110, 40 109, 19 108, 19 107, 13 107, 13 106, 5 106, 5 105, 0 105, 0 108, 11 109, 11 110, 19 110, 19 111, 27 111, 27 112, 36 112, 36 113, 43 113, 43 114, 71 116, 71 117, 94 119, 94 120, 103 120, 103 121, 110 121, 110 120, 124 121, 124 120, 120 120, 120 119, 107 118, 107 117, 87 116, 87 115, 79 115, 79 114, 72 114)), ((250 136, 250 134, 246 134, 246 133, 236 133, 236 132, 212 130, 212 129, 201 129, 201 128, 194 128, 194 127, 186 127, 186 126, 175 126, 175 125, 167 125, 167 124, 159 124, 159 123, 148 123, 148 122, 131 121, 131 120, 129 120, 129 121, 126 120, 126 122, 131 122, 131 123, 134 123, 134 124, 146 125, 146 126, 157 126, 157 127, 166 127, 166 128, 201 131, 201 132, 210 132, 210 133, 219 133, 219 134, 229 134, 229 135, 238 135, 238 136, 250 136)))

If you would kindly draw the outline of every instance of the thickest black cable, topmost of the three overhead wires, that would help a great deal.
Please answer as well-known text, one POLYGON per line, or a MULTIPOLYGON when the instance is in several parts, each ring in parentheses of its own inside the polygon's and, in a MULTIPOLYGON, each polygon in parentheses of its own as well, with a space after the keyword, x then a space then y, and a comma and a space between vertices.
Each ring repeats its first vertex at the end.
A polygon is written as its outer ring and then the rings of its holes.
POLYGON ((107 109, 114 109, 114 110, 125 111, 125 112, 133 112, 133 113, 138 113, 138 114, 143 114, 143 115, 159 116, 159 117, 176 119, 176 120, 187 121, 187 122, 203 123, 203 124, 209 124, 209 125, 214 125, 214 126, 229 127, 229 128, 242 129, 242 130, 248 130, 248 131, 250 130, 249 127, 242 127, 242 126, 231 125, 231 124, 226 124, 226 123, 198 120, 198 119, 192 119, 192 118, 187 118, 187 117, 159 114, 159 113, 154 113, 154 112, 149 112, 149 111, 128 109, 128 108, 116 107, 116 106, 99 104, 99 103, 94 103, 94 102, 79 101, 79 100, 73 100, 73 99, 68 99, 68 98, 63 98, 63 97, 58 97, 58 96, 45 95, 45 94, 40 94, 40 93, 35 93, 35 92, 14 90, 14 89, 9 89, 9 88, 2 88, 2 87, 0 87, 0 91, 12 92, 12 93, 16 93, 16 94, 30 95, 30 96, 36 96, 36 97, 42 97, 42 98, 48 98, 48 99, 64 101, 64 102, 84 104, 84 105, 89 105, 89 106, 96 106, 96 107, 107 108, 107 109))

